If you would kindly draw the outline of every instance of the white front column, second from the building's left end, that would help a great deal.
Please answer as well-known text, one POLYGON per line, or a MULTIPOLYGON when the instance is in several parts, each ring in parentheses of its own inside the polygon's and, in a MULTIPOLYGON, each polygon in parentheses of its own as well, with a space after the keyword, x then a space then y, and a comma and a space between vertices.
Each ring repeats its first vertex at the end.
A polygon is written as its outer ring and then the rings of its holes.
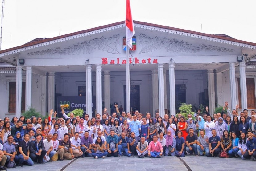
POLYGON ((26 67, 26 96, 25 96, 25 110, 31 107, 31 92, 32 92, 32 67, 26 67))

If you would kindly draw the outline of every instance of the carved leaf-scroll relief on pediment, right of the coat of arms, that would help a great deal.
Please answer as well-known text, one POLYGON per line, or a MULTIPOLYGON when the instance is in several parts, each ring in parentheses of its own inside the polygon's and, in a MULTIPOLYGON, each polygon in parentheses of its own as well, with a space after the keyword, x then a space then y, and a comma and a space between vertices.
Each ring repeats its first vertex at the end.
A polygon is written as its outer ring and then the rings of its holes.
POLYGON ((213 45, 201 44, 199 46, 189 44, 183 40, 147 37, 145 34, 139 34, 139 44, 142 45, 139 53, 148 53, 158 49, 165 48, 167 52, 199 52, 199 51, 217 51, 232 52, 233 49, 218 47, 213 45))

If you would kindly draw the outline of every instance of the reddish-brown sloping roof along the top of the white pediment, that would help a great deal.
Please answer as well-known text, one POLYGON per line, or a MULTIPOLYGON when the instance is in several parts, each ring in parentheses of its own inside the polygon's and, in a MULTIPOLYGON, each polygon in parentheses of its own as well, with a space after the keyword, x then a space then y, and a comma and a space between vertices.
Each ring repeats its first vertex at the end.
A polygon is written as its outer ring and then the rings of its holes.
MULTIPOLYGON (((69 37, 69 36, 73 36, 73 35, 77 35, 77 34, 83 34, 83 33, 88 33, 88 32, 91 32, 91 31, 99 30, 99 29, 104 29, 104 28, 107 28, 107 27, 116 26, 116 25, 120 25, 120 24, 124 24, 124 23, 125 23, 125 21, 116 22, 116 23, 112 23, 112 24, 108 24, 108 25, 104 25, 104 26, 99 26, 99 27, 95 27, 95 28, 91 28, 91 29, 87 29, 87 30, 77 31, 77 32, 74 32, 74 33, 69 33, 69 34, 64 34, 64 35, 53 37, 53 38, 36 38, 36 39, 34 39, 30 42, 25 43, 24 45, 16 46, 16 47, 5 49, 5 50, 1 50, 0 54, 5 53, 5 52, 9 52, 9 51, 12 51, 12 50, 17 50, 17 49, 20 49, 20 48, 28 47, 28 46, 33 46, 33 45, 44 43, 44 42, 53 41, 53 40, 60 39, 60 38, 65 38, 65 37, 69 37)), ((225 34, 206 34, 206 33, 200 33, 200 32, 191 31, 191 30, 184 30, 184 29, 179 29, 179 28, 175 28, 175 27, 162 26, 162 25, 158 25, 158 24, 152 24, 152 23, 140 22, 140 21, 134 21, 134 24, 141 24, 141 25, 146 25, 146 26, 159 27, 159 28, 162 28, 162 29, 170 29, 170 30, 174 30, 174 31, 188 33, 188 34, 197 34, 197 35, 200 35, 200 36, 207 36, 207 37, 210 37, 210 38, 222 39, 222 40, 226 40, 226 41, 232 41, 232 42, 237 42, 237 43, 241 43, 241 44, 256 46, 256 43, 237 40, 237 39, 232 38, 232 37, 230 37, 228 35, 225 35, 225 34)))

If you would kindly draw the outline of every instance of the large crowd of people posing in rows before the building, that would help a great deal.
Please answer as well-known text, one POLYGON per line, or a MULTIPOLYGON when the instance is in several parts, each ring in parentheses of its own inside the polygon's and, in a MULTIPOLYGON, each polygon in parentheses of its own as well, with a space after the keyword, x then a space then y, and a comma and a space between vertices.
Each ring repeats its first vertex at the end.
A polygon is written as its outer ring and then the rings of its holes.
MULTIPOLYGON (((222 113, 208 113, 201 116, 200 110, 188 114, 187 120, 181 113, 159 113, 151 117, 135 111, 116 111, 96 114, 89 119, 68 115, 56 118, 53 109, 49 117, 32 116, 12 120, 0 120, 0 170, 14 165, 22 167, 34 162, 45 164, 49 161, 72 160, 75 157, 122 157, 138 155, 140 158, 161 156, 184 157, 189 155, 229 157, 255 160, 256 158, 256 116, 244 109, 240 115, 237 109, 232 113, 225 102, 222 113), (227 113, 225 113, 227 109, 227 113), (193 119, 195 118, 195 119, 193 119)), ((237 105, 237 108, 239 106, 237 105)))

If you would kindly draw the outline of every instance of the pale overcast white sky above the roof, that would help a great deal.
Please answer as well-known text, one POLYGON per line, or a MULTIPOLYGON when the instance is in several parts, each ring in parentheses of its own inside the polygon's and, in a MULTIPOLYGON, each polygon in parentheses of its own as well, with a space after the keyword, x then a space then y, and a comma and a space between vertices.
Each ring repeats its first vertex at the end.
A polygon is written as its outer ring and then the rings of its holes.
MULTIPOLYGON (((203 33, 227 34, 256 43, 254 0, 130 0, 130 3, 132 17, 137 21, 198 32, 202 24, 203 33)), ((2 50, 35 38, 51 38, 124 21, 125 12, 126 0, 5 0, 2 50)))

